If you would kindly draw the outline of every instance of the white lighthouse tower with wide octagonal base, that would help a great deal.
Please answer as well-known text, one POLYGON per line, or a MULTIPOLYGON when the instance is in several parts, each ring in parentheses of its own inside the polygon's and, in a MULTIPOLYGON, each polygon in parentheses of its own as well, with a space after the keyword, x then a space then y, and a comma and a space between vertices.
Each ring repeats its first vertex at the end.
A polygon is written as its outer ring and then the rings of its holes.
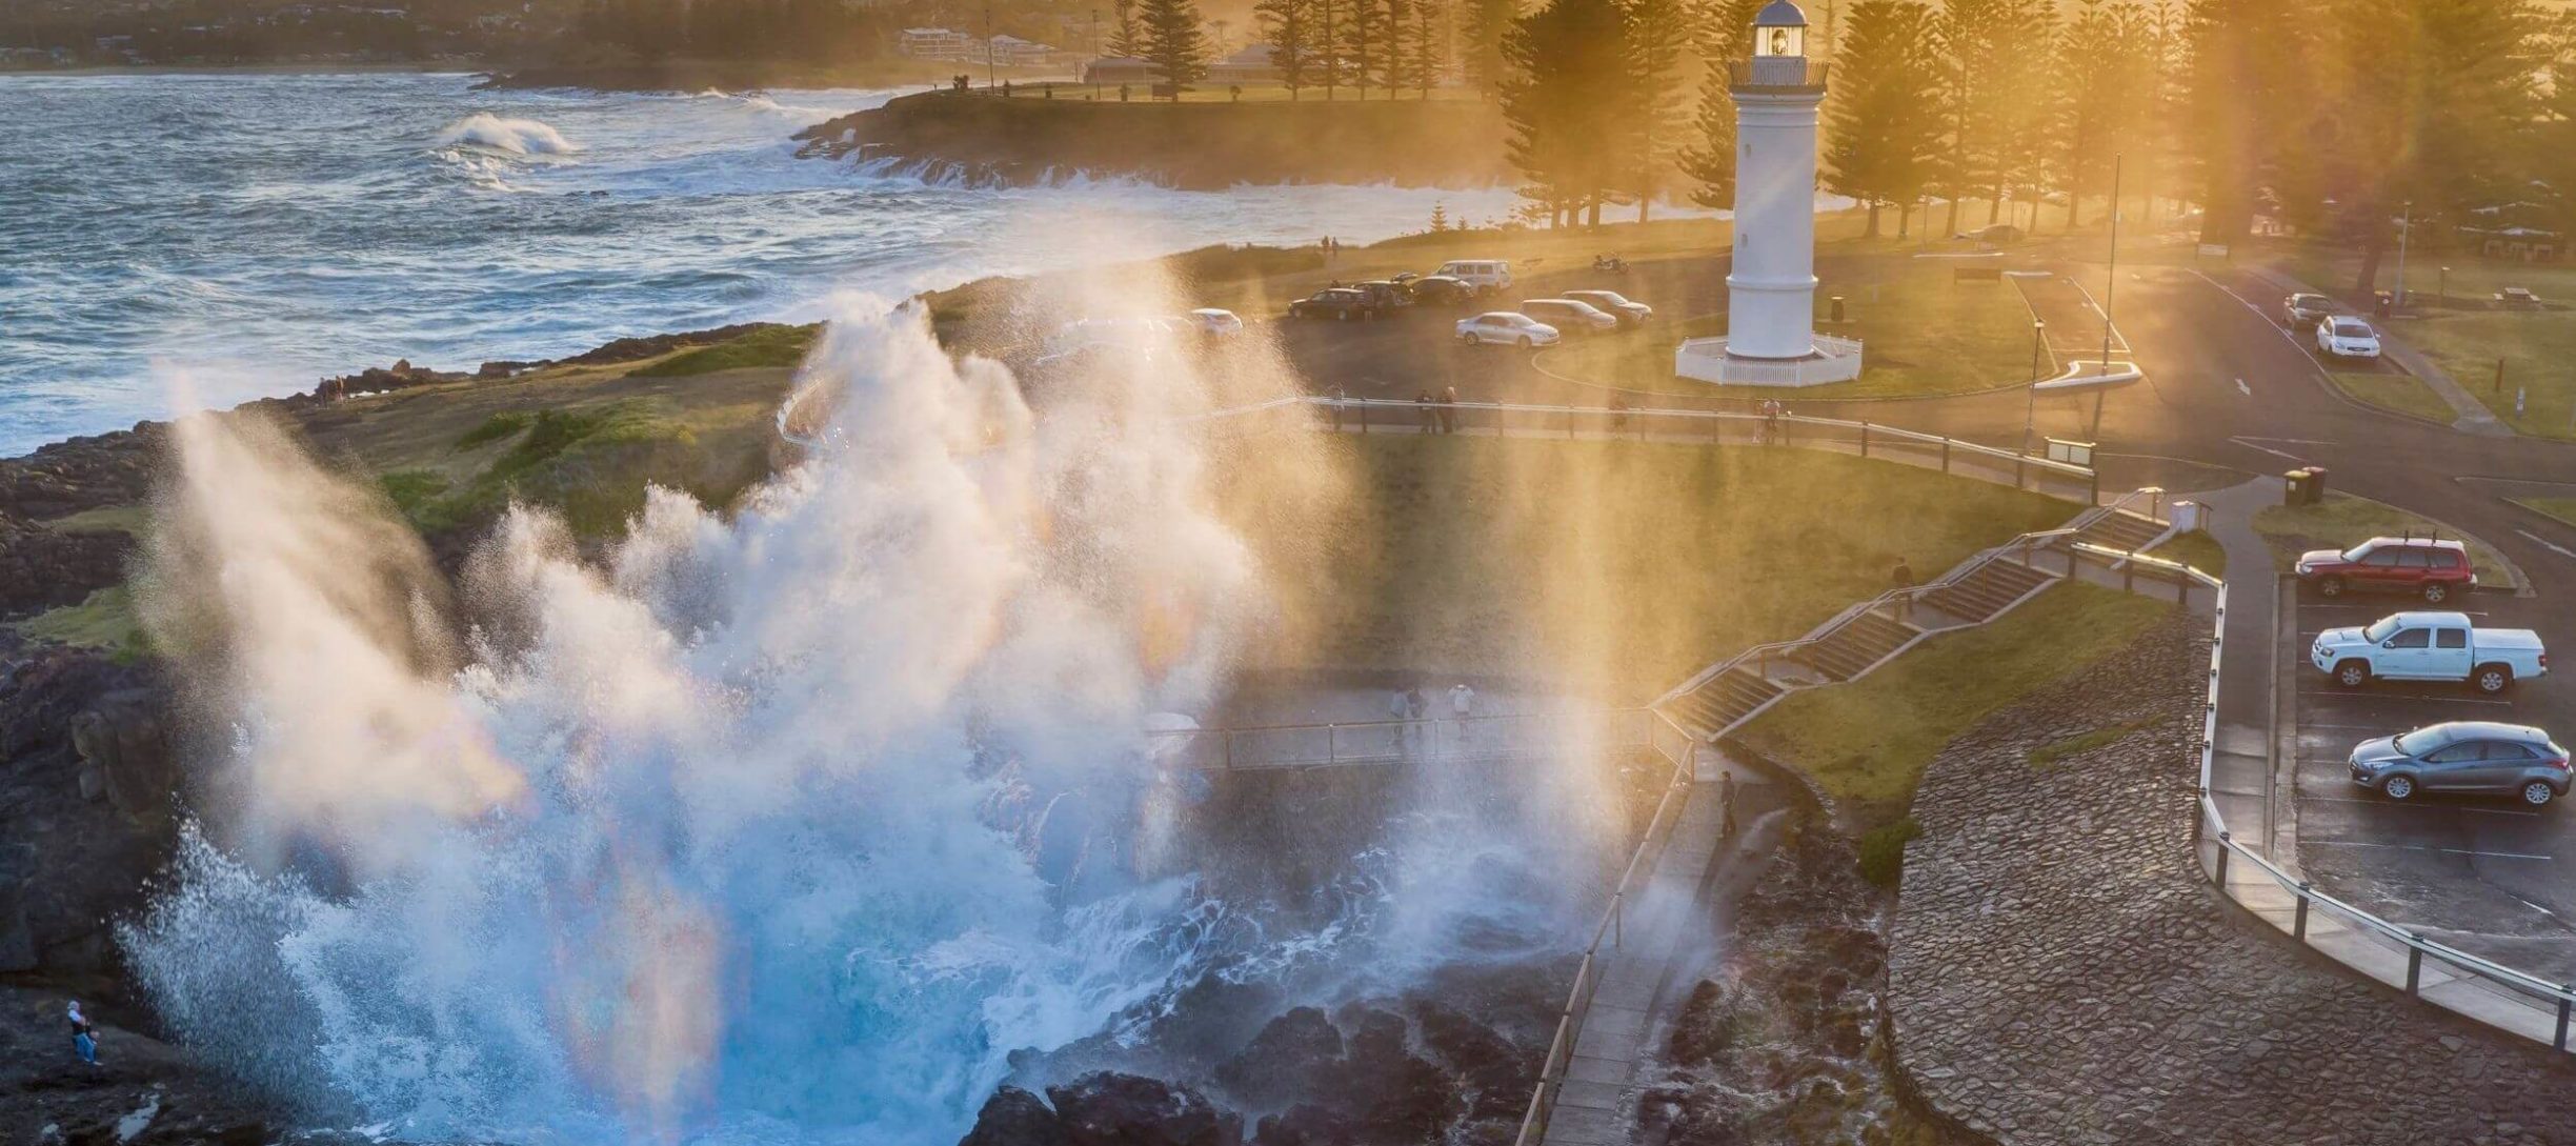
POLYGON ((1772 0, 1734 64, 1736 252, 1726 337, 1695 337, 1674 373, 1736 386, 1816 386, 1860 376, 1860 343, 1816 337, 1816 108, 1826 64, 1806 57, 1806 13, 1772 0))

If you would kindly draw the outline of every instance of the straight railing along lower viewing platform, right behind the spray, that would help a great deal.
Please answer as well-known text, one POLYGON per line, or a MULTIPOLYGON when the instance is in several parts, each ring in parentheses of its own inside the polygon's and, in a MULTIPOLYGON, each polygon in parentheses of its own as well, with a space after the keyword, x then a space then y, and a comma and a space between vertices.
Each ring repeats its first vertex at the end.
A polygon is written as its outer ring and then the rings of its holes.
POLYGON ((1680 747, 1659 742, 1659 721, 1649 708, 1574 708, 1419 721, 1255 724, 1229 729, 1157 729, 1146 731, 1146 747, 1157 762, 1208 773, 1419 765, 1569 749, 1656 749, 1669 757, 1680 747))

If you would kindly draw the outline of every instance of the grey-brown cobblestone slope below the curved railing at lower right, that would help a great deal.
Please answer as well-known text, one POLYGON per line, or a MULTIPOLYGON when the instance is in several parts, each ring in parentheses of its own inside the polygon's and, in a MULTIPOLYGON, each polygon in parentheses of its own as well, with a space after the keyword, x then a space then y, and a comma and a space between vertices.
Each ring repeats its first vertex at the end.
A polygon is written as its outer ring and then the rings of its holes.
POLYGON ((2316 963, 2197 878, 2195 631, 1932 762, 1888 955, 1904 1082, 2004 1146, 2576 1143, 2576 1061, 2316 963))

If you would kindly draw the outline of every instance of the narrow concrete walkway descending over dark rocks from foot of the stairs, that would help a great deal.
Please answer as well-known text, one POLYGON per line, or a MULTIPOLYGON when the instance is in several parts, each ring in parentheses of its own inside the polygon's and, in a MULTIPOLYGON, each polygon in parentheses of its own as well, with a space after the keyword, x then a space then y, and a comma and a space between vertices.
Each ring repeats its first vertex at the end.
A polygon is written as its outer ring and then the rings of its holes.
POLYGON ((1718 912, 1734 901, 1777 845, 1788 793, 1777 780, 1700 749, 1703 773, 1734 775, 1736 834, 1721 837, 1718 783, 1703 778, 1674 822, 1672 840, 1646 881, 1646 894, 1625 912, 1618 948, 1602 958, 1602 981, 1574 1040, 1566 1084, 1548 1118, 1551 1146, 1625 1143, 1636 1128, 1636 1092, 1643 1066, 1664 1040, 1664 1025, 1690 986, 1685 971, 1705 966, 1718 912))

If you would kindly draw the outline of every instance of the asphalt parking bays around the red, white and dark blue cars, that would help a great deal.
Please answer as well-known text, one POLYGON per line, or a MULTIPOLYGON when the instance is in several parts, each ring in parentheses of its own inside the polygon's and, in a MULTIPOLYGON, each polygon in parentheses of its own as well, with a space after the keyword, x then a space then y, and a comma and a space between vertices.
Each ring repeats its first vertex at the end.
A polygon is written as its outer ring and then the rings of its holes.
MULTIPOLYGON (((2486 628, 2537 628, 2548 644, 2571 636, 2566 610, 2543 597, 2473 592, 2460 613, 2486 628)), ((2391 801, 2349 780, 2357 742, 2442 721, 2535 724, 2566 742, 2576 734, 2576 685, 2561 677, 2519 682, 2501 698, 2450 682, 2370 682, 2339 688, 2308 667, 2318 631, 2367 626, 2424 608, 2409 597, 2321 600, 2300 592, 2295 636, 2280 649, 2295 695, 2298 860, 2326 894, 2421 927, 2427 937, 2524 971, 2576 981, 2576 816, 2504 796, 2421 793, 2391 801)), ((2287 749, 2287 747, 2285 747, 2287 749)))

